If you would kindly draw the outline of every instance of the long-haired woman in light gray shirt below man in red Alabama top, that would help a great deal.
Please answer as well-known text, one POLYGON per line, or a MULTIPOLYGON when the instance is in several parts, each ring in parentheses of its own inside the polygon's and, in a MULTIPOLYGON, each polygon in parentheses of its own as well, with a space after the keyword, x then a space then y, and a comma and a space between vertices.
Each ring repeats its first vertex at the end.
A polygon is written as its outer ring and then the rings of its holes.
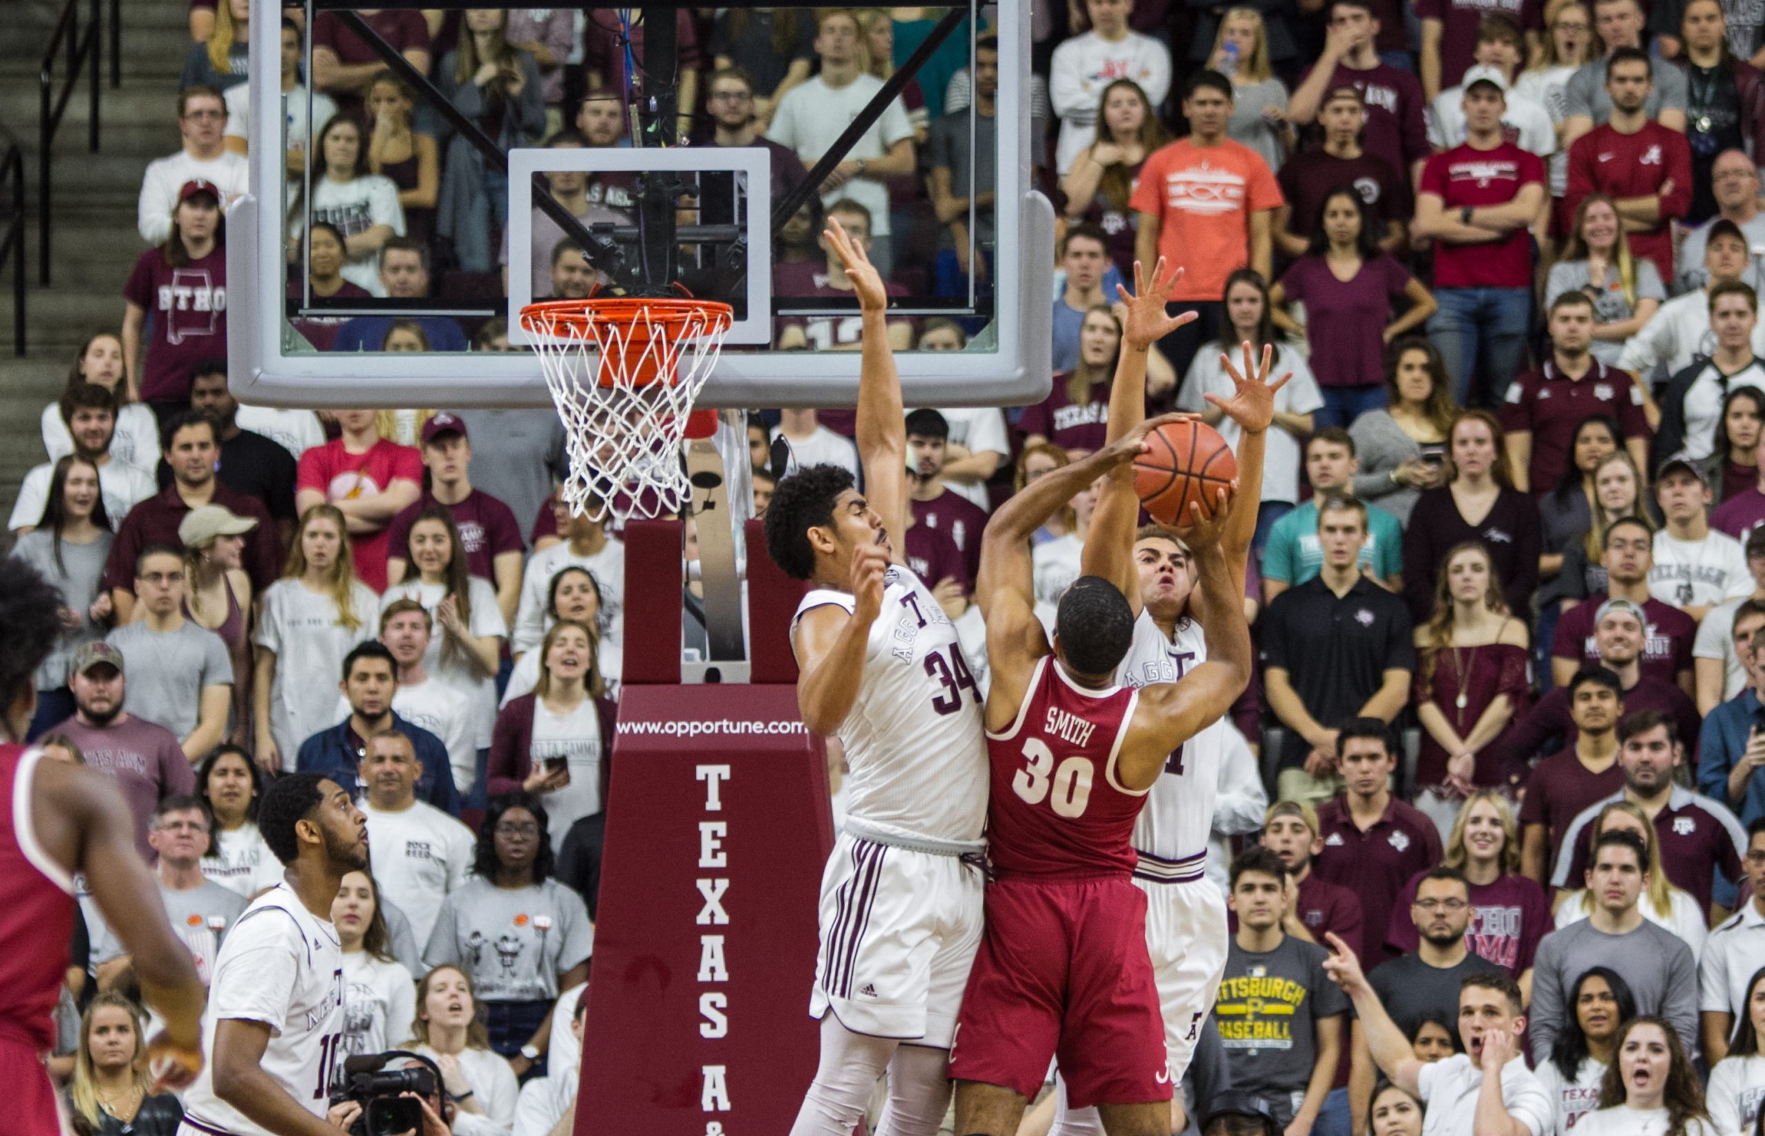
MULTIPOLYGON (((1557 296, 1585 293, 1594 300, 1592 355, 1615 367, 1624 340, 1641 330, 1666 300, 1666 284, 1649 258, 1631 256, 1619 208, 1604 194, 1588 194, 1544 282, 1546 310, 1557 296)), ((1534 489, 1546 489, 1536 485, 1534 489)))

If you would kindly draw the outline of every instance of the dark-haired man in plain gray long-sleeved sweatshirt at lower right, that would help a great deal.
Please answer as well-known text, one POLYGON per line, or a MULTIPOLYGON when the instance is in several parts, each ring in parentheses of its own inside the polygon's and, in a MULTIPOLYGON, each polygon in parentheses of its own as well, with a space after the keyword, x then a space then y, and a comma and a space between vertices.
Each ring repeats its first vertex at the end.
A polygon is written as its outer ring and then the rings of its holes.
POLYGON ((1691 947, 1643 919, 1638 898, 1649 884, 1649 852, 1634 833, 1601 833, 1594 841, 1587 889, 1594 912, 1551 931, 1532 960, 1532 1050, 1550 1053, 1574 1007, 1567 991, 1590 967, 1610 967, 1629 984, 1636 1011, 1673 1023, 1689 1053, 1698 1044, 1698 965, 1691 947))

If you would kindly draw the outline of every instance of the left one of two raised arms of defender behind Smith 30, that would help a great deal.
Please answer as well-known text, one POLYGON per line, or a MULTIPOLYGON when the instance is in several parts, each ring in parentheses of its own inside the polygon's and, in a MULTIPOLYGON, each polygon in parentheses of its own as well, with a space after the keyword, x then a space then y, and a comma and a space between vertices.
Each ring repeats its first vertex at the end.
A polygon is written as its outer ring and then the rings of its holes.
MULTIPOLYGON (((1115 377, 1108 395, 1108 425, 1105 437, 1117 441, 1145 418, 1145 353, 1165 335, 1197 319, 1195 312, 1167 316, 1170 289, 1183 279, 1183 270, 1165 272, 1165 258, 1145 279, 1140 261, 1133 263, 1133 295, 1121 284, 1115 291, 1126 305, 1123 344, 1115 356, 1115 377)), ((1179 376, 1181 377, 1181 376, 1179 376)), ((1133 466, 1114 469, 1098 494, 1091 512, 1091 533, 1080 556, 1085 575, 1100 575, 1128 596, 1128 607, 1140 614, 1140 582, 1133 570, 1133 531, 1140 517, 1140 497, 1133 492, 1133 466)), ((1255 524, 1255 522, 1251 522, 1255 524)))

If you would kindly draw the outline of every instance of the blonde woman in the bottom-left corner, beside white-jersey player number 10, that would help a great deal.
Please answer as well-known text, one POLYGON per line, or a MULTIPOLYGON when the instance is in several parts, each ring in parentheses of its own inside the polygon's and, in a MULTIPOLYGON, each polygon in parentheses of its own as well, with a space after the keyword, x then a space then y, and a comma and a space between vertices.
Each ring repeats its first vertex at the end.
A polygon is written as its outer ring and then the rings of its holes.
POLYGON ((184 1108, 169 1094, 154 1094, 146 1071, 141 1011, 120 993, 101 993, 79 1016, 79 1050, 67 1087, 69 1111, 104 1136, 173 1136, 184 1108))

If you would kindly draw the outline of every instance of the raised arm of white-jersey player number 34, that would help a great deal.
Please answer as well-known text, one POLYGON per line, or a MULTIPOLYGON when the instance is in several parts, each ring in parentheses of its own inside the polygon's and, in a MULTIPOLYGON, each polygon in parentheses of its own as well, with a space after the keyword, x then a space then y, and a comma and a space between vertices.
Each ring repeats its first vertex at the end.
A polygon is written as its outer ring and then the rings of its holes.
POLYGON ((863 247, 828 217, 828 243, 845 266, 863 312, 863 365, 858 372, 858 460, 865 469, 865 496, 888 529, 890 557, 907 563, 907 409, 900 400, 900 374, 888 342, 888 291, 863 247))

